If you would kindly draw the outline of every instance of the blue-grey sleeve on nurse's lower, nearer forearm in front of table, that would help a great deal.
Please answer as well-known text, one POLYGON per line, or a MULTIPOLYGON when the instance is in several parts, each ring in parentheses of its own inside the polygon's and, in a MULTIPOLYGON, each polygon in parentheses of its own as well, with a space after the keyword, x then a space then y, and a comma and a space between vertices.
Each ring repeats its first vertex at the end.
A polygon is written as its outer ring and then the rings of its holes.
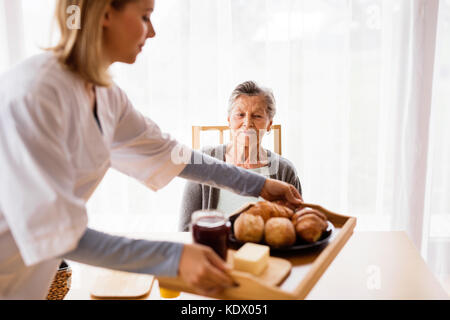
POLYGON ((63 259, 118 271, 175 277, 182 243, 135 240, 87 229, 63 259))

